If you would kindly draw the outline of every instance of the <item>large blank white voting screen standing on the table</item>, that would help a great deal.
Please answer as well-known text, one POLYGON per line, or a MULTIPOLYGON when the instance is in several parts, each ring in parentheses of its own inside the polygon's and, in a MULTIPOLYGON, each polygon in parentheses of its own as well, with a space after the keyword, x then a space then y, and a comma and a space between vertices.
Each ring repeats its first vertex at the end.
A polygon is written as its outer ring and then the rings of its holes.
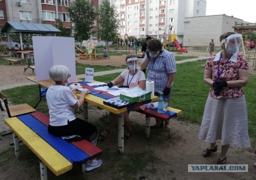
POLYGON ((69 82, 76 82, 74 38, 33 36, 32 40, 37 81, 50 79, 50 68, 61 64, 69 69, 69 82))

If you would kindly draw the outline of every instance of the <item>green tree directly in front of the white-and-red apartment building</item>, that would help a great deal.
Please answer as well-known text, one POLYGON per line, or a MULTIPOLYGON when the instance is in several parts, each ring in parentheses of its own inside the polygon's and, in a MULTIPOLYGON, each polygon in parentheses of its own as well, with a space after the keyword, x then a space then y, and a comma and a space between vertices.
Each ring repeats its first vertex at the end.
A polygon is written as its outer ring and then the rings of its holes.
POLYGON ((103 0, 99 8, 99 35, 100 40, 106 41, 106 44, 116 39, 120 24, 117 17, 116 7, 110 6, 108 0, 103 0))

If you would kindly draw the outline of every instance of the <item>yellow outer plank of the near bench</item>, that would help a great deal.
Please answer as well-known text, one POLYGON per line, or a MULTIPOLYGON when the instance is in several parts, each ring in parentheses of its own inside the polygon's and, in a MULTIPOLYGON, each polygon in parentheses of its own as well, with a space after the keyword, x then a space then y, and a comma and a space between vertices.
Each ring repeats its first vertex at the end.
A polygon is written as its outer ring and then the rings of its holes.
POLYGON ((5 119, 4 122, 56 176, 72 169, 71 162, 64 158, 64 156, 52 148, 52 146, 40 138, 40 136, 28 128, 28 126, 18 118, 8 118, 5 119))

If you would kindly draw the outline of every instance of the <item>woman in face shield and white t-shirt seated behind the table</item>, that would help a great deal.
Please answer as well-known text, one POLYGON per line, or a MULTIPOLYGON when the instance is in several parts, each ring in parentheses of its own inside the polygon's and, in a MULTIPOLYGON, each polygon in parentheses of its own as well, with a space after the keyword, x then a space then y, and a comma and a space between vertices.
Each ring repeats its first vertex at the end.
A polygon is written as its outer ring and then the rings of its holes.
MULTIPOLYGON (((112 80, 108 83, 108 87, 112 87, 114 85, 118 85, 121 82, 124 82, 123 86, 119 86, 119 88, 132 88, 135 86, 139 86, 142 90, 144 90, 146 86, 146 77, 145 74, 137 69, 138 58, 136 55, 128 55, 126 57, 126 64, 128 66, 128 70, 124 70, 116 79, 112 80)), ((133 108, 130 111, 138 111, 140 109, 145 109, 146 106, 140 106, 133 108)), ((130 136, 132 136, 132 127, 130 124, 129 113, 130 111, 124 112, 124 127, 126 128, 126 132, 124 133, 124 140, 127 140, 130 136)), ((114 125, 117 123, 118 118, 113 117, 108 128, 106 128, 98 137, 98 141, 104 141, 114 125)))

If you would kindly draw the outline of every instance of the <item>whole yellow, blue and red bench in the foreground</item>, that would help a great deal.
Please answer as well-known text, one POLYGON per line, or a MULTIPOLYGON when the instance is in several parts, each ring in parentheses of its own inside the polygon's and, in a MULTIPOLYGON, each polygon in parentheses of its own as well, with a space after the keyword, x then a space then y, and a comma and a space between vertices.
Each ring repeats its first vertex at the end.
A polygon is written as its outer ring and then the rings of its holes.
POLYGON ((5 119, 4 122, 13 131, 14 150, 20 157, 18 138, 24 142, 40 159, 41 179, 47 179, 47 167, 59 176, 72 169, 74 163, 82 164, 100 156, 102 150, 86 140, 67 142, 61 137, 48 133, 49 117, 42 112, 35 112, 15 118, 5 119))

